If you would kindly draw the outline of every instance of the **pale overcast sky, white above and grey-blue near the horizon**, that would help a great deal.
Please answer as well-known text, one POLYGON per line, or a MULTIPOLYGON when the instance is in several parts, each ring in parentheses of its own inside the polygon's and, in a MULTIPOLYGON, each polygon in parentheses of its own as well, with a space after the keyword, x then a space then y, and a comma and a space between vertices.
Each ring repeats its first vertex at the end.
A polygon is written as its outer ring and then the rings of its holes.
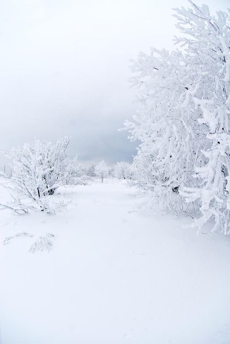
MULTIPOLYGON (((197 4, 204 1, 197 0, 197 4)), ((206 0, 226 10, 229 0, 206 0)), ((71 136, 89 165, 131 161, 118 132, 135 114, 130 58, 173 49, 173 7, 186 0, 0 0, 0 148, 71 136)))

